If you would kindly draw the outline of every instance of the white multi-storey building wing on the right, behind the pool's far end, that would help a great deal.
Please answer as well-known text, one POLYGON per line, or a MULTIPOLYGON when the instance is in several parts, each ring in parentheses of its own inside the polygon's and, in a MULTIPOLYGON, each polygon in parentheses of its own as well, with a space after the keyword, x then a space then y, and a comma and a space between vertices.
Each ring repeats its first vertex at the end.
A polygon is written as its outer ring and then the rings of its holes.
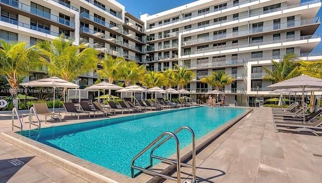
POLYGON ((228 103, 252 106, 255 97, 270 96, 263 66, 274 69, 286 53, 303 60, 321 41, 315 33, 320 1, 229 0, 196 1, 154 15, 141 15, 147 35, 147 69, 163 71, 175 64, 195 72, 185 86, 194 100, 205 101, 212 87, 200 78, 224 70, 235 81, 222 92, 228 103))

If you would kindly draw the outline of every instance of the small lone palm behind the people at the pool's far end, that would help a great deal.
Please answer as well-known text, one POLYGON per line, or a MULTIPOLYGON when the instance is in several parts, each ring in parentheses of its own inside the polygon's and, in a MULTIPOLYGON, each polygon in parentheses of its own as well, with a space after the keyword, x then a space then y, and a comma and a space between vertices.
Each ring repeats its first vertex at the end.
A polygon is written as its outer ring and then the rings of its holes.
POLYGON ((225 87, 226 85, 232 83, 234 78, 229 76, 228 73, 225 73, 224 70, 220 72, 211 72, 211 75, 203 77, 200 79, 201 82, 207 83, 219 90, 221 87, 225 87))

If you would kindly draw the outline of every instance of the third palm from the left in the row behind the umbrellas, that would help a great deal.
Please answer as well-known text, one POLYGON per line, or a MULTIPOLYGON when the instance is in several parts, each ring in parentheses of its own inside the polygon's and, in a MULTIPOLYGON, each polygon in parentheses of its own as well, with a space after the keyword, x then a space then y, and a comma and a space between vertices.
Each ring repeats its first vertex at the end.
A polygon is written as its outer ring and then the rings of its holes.
MULTIPOLYGON (((124 58, 123 58, 124 59, 124 58)), ((111 55, 105 54, 104 59, 100 60, 102 69, 96 71, 101 78, 107 78, 109 83, 120 78, 122 58, 114 59, 111 55)))

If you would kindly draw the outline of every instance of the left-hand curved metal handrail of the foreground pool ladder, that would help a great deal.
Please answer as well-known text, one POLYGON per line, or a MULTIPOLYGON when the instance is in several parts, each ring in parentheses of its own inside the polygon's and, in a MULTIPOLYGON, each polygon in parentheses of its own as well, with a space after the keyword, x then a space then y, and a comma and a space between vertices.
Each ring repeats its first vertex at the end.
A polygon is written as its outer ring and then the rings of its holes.
POLYGON ((181 166, 181 163, 180 163, 180 142, 179 142, 179 139, 172 132, 164 132, 160 136, 158 136, 156 139, 154 139, 153 142, 151 142, 149 145, 147 145, 141 152, 139 152, 136 156, 133 157, 133 159, 131 161, 131 176, 132 176, 132 178, 134 178, 134 169, 137 169, 137 170, 140 170, 140 171, 152 174, 152 175, 161 176, 161 177, 164 177, 164 178, 167 178, 167 179, 177 181, 178 183, 181 183, 180 166, 181 166), (149 148, 151 148, 155 143, 157 143, 160 139, 162 139, 165 136, 169 136, 170 138, 173 137, 175 139, 175 141, 176 141, 176 145, 177 145, 177 177, 178 178, 174 178, 174 177, 171 177, 171 176, 166 175, 166 174, 162 174, 162 173, 159 173, 159 172, 156 172, 156 171, 152 171, 152 170, 141 168, 141 167, 138 167, 138 166, 134 165, 134 161, 138 157, 140 157, 144 152, 146 152, 149 148))

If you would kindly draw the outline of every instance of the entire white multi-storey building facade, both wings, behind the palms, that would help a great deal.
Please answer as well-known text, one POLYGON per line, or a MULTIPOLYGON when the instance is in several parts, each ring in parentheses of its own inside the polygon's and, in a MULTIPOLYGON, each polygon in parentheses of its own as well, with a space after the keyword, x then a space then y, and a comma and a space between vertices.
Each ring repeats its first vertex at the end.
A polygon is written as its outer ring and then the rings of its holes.
MULTIPOLYGON (((148 70, 180 67, 195 72, 186 89, 194 100, 205 101, 212 87, 200 82, 212 71, 224 70, 235 79, 221 88, 228 103, 248 106, 258 96, 269 96, 271 84, 262 79, 263 66, 274 69, 286 53, 302 60, 322 59, 312 53, 321 41, 315 33, 319 0, 200 0, 140 19, 114 0, 0 0, 0 39, 52 40, 64 33, 75 45, 145 64, 148 70)), ((27 79, 46 74, 33 72, 27 79)), ((91 85, 94 72, 79 76, 91 85)))

